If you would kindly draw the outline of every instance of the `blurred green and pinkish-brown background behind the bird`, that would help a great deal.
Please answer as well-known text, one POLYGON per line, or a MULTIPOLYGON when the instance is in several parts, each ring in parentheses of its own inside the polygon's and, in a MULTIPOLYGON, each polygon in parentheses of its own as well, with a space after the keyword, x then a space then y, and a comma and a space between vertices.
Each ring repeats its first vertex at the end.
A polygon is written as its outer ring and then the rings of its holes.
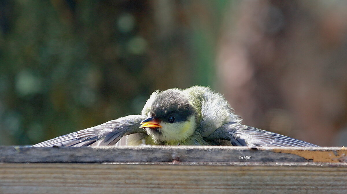
POLYGON ((0 145, 210 85, 244 124, 347 143, 345 1, 0 0, 0 145))

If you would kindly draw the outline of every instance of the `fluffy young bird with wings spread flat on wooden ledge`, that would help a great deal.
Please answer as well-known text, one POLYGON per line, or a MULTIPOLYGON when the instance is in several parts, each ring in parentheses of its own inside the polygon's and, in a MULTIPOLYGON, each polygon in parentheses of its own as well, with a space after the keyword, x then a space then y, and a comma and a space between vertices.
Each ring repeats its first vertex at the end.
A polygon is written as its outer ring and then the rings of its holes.
POLYGON ((32 146, 230 145, 319 147, 288 136, 241 124, 228 101, 206 86, 154 91, 141 114, 62 135, 32 146))

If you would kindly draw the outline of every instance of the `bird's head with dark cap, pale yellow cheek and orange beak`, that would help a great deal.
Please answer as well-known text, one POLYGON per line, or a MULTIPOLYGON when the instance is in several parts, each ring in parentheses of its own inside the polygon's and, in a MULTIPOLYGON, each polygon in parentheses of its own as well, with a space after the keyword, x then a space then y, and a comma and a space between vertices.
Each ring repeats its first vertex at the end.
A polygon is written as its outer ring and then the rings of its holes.
POLYGON ((174 145, 193 134, 196 111, 180 90, 170 89, 156 96, 141 124, 154 141, 174 145))

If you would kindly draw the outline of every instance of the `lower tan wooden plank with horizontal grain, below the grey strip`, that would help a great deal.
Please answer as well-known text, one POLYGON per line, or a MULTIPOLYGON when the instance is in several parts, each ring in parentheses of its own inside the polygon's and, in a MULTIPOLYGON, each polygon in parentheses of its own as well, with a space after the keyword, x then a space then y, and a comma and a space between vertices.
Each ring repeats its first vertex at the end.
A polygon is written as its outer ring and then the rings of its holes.
POLYGON ((2 163, 1 194, 346 193, 346 163, 2 163))

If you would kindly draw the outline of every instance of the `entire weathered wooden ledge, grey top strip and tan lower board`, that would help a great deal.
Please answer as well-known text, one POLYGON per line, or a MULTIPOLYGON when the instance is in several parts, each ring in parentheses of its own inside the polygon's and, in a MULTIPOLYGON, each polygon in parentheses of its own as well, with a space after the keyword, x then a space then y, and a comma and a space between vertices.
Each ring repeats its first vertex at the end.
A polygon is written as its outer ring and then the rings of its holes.
POLYGON ((0 194, 346 194, 346 155, 344 147, 0 147, 0 194))

